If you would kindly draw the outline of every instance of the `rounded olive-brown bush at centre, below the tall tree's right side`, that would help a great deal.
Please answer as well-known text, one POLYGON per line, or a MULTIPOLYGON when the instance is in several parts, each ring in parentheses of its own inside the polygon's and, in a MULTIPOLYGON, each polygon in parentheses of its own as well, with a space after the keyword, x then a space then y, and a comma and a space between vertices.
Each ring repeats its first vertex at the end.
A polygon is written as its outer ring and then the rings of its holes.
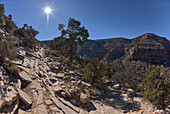
POLYGON ((113 74, 114 70, 109 68, 106 63, 100 62, 99 59, 91 59, 84 69, 82 79, 92 85, 103 85, 113 74))

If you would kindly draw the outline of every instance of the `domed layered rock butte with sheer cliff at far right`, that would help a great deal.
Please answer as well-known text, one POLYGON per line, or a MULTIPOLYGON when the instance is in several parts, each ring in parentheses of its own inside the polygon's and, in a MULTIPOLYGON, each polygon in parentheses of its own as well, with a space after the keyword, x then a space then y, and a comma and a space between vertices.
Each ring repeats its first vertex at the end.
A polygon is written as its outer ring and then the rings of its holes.
POLYGON ((170 42, 155 34, 144 34, 132 40, 125 50, 125 58, 169 66, 170 42))

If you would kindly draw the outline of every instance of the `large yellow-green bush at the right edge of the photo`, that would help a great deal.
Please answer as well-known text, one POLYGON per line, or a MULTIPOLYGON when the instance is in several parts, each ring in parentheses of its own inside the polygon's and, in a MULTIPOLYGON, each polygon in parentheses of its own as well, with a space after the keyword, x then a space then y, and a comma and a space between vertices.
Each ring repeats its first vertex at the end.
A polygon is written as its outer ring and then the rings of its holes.
POLYGON ((170 72, 163 66, 150 66, 144 80, 144 98, 159 108, 170 101, 170 72))

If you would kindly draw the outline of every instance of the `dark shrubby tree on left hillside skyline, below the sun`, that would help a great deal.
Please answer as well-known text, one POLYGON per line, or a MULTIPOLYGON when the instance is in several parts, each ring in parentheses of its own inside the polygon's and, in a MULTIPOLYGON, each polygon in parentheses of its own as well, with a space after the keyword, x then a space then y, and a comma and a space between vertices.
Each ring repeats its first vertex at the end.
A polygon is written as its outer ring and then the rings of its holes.
POLYGON ((35 38, 35 36, 38 33, 39 32, 33 29, 32 26, 28 26, 27 24, 24 24, 24 27, 14 31, 14 35, 21 38, 22 40, 21 45, 30 48, 37 45, 38 40, 35 38))

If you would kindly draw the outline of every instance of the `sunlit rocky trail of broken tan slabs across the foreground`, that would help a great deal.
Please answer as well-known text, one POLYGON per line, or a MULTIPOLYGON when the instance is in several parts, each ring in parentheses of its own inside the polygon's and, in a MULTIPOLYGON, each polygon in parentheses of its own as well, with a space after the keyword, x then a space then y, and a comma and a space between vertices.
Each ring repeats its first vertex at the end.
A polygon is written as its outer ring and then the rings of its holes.
POLYGON ((139 97, 129 101, 128 90, 120 84, 112 82, 105 92, 92 87, 80 80, 78 68, 61 64, 47 52, 21 48, 18 60, 12 61, 17 76, 0 67, 0 113, 148 114, 152 108, 139 97))

